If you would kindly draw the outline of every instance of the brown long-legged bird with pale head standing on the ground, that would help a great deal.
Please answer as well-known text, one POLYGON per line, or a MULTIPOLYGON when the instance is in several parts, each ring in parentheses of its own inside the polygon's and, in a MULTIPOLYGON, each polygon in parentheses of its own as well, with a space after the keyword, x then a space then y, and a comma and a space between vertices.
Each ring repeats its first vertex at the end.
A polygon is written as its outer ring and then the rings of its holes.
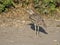
POLYGON ((34 11, 34 9, 25 9, 27 11, 27 13, 29 13, 29 19, 31 20, 31 22, 34 24, 34 29, 36 32, 36 35, 39 35, 39 27, 41 25, 46 27, 46 24, 44 22, 44 19, 42 18, 42 16, 40 16, 38 13, 36 13, 34 11))

